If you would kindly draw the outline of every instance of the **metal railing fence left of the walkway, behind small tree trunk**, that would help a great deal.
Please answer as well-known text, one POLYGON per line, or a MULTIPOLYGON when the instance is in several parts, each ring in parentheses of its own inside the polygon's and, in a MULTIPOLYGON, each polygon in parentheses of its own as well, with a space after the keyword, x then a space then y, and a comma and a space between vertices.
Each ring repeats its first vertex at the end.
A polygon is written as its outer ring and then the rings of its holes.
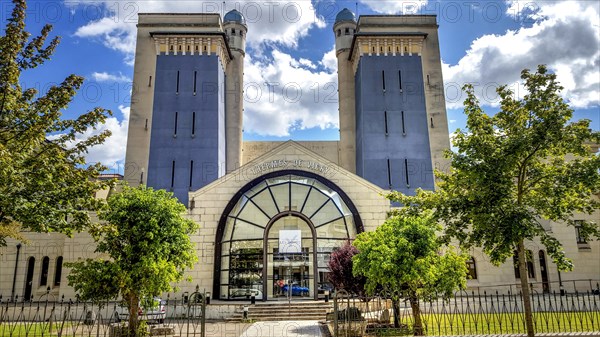
MULTIPOLYGON (((205 336, 206 293, 168 295, 160 303, 139 313, 148 335, 205 336)), ((57 300, 49 293, 37 299, 0 296, 0 337, 124 337, 127 320, 127 308, 118 301, 57 300)))

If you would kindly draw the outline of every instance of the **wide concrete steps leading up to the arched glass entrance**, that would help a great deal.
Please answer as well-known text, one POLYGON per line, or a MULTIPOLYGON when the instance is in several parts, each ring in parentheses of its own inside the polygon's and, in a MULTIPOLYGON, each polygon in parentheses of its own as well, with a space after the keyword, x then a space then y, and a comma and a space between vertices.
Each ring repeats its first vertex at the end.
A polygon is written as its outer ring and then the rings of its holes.
MULTIPOLYGON (((333 301, 257 302, 248 305, 248 319, 253 321, 323 321, 333 311, 333 301)), ((243 320, 242 307, 236 310, 230 321, 243 320)))

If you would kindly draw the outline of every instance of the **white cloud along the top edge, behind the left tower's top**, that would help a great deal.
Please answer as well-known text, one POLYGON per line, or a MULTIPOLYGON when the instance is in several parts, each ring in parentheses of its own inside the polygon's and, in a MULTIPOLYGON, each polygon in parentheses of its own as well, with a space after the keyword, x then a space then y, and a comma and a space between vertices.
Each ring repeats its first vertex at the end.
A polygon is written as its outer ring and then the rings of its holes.
MULTIPOLYGON (((129 64, 135 54, 137 14, 143 13, 223 13, 237 9, 246 17, 249 33, 247 42, 252 48, 278 43, 296 47, 298 40, 313 27, 323 28, 325 22, 317 15, 310 1, 273 0, 265 2, 215 1, 92 1, 95 8, 108 12, 105 17, 79 27, 75 36, 100 39, 113 50, 125 54, 129 64)), ((89 11, 90 1, 66 3, 71 8, 89 11)), ((84 15, 85 16, 85 15, 84 15)), ((260 52, 261 50, 258 50, 260 52)))

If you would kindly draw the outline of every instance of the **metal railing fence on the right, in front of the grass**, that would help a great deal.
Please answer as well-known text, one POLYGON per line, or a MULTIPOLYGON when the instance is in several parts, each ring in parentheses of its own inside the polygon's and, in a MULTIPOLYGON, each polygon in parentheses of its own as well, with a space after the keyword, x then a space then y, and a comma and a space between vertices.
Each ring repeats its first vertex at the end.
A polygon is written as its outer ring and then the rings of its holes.
MULTIPOLYGON (((534 289, 531 298, 536 333, 600 332, 598 289, 598 283, 586 291, 534 289)), ((477 289, 457 292, 452 298, 418 300, 418 303, 425 335, 526 333, 520 291, 477 289)), ((334 337, 415 333, 413 310, 402 292, 360 297, 338 291, 334 296, 334 312, 327 319, 334 337)))

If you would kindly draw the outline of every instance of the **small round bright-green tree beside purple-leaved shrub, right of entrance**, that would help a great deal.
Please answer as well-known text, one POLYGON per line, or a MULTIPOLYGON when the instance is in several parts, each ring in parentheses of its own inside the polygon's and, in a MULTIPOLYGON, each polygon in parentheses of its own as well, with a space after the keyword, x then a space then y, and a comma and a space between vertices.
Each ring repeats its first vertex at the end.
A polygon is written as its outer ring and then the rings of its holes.
MULTIPOLYGON (((444 247, 438 239, 431 217, 390 217, 373 232, 360 233, 354 246, 354 274, 367 278, 366 291, 377 287, 392 292, 401 290, 410 302, 415 335, 423 335, 419 301, 437 296, 450 297, 466 286, 467 256, 452 247, 444 247)), ((398 322, 398 304, 394 299, 394 323, 398 322)))

